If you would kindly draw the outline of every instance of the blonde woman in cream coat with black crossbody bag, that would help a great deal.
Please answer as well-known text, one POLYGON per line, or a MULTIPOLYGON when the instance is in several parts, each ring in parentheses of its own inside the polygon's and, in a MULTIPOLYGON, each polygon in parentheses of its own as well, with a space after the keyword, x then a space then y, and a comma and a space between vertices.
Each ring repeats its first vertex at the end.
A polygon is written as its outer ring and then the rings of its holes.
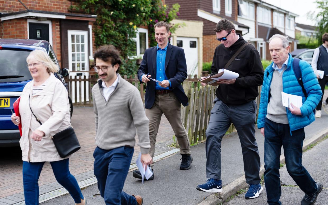
POLYGON ((41 50, 32 51, 26 61, 33 80, 26 84, 22 92, 20 117, 15 113, 11 115, 14 124, 22 121, 19 143, 23 156, 25 204, 39 204, 38 179, 44 163, 49 161, 58 183, 68 190, 76 204, 85 205, 87 201, 69 171, 70 156, 61 158, 51 139, 51 136, 71 126, 68 93, 53 74, 58 67, 41 50))

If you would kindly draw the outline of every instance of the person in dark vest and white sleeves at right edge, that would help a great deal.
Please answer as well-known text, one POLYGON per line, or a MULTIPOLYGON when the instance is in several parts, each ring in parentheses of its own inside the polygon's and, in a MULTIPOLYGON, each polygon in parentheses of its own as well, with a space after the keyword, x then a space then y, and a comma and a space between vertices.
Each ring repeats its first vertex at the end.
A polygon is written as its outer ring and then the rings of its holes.
POLYGON ((323 78, 319 78, 317 74, 317 78, 319 81, 319 85, 322 91, 321 100, 316 108, 316 117, 321 117, 321 107, 328 114, 328 97, 325 101, 323 100, 323 94, 325 92, 325 86, 328 83, 328 33, 324 33, 322 35, 322 45, 314 50, 311 64, 314 72, 317 70, 324 71, 323 78))

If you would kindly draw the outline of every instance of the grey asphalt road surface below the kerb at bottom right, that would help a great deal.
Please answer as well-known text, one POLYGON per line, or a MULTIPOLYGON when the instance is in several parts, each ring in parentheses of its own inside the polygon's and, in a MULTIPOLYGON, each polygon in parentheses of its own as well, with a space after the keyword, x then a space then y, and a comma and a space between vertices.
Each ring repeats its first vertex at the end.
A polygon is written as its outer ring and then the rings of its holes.
MULTIPOLYGON (((303 166, 311 174, 312 178, 323 185, 323 190, 318 195, 316 205, 327 205, 328 198, 328 139, 320 142, 317 146, 303 154, 302 163, 303 166)), ((280 169, 280 181, 281 181, 281 197, 280 201, 282 204, 288 205, 299 205, 304 192, 299 189, 297 184, 294 182, 292 177, 289 176, 286 166, 280 169)), ((256 205, 266 204, 266 191, 263 186, 263 192, 256 199, 245 199, 243 194, 235 196, 228 202, 223 203, 224 205, 256 205)))

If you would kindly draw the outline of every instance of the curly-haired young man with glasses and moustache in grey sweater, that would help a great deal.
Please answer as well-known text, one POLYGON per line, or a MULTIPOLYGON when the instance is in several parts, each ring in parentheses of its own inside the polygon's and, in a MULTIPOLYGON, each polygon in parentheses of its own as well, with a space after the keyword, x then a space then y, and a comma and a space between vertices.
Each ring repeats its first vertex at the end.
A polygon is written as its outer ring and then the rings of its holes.
POLYGON ((138 134, 141 162, 153 162, 150 148, 148 118, 140 93, 118 74, 122 64, 119 52, 112 45, 101 46, 93 54, 94 70, 100 79, 92 87, 96 124, 96 149, 94 150, 94 175, 98 180, 100 195, 106 204, 141 205, 141 196, 122 191, 129 172, 135 134, 138 134))

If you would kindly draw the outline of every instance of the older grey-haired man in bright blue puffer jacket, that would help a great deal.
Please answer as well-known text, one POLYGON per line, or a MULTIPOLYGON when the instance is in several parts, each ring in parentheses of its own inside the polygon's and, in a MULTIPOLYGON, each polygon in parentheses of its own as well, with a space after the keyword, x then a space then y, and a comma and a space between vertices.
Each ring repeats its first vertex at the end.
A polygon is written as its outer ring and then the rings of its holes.
POLYGON ((301 205, 314 204, 322 185, 314 181, 302 165, 304 127, 315 120, 313 110, 322 96, 316 75, 309 63, 299 61, 302 81, 307 93, 305 98, 294 70, 294 58, 289 54, 287 36, 273 35, 269 40, 273 62, 264 72, 257 127, 264 140, 264 181, 269 204, 281 204, 279 157, 284 148, 286 168, 290 176, 305 193, 301 205), (281 92, 302 96, 303 105, 290 108, 282 105, 281 92))

